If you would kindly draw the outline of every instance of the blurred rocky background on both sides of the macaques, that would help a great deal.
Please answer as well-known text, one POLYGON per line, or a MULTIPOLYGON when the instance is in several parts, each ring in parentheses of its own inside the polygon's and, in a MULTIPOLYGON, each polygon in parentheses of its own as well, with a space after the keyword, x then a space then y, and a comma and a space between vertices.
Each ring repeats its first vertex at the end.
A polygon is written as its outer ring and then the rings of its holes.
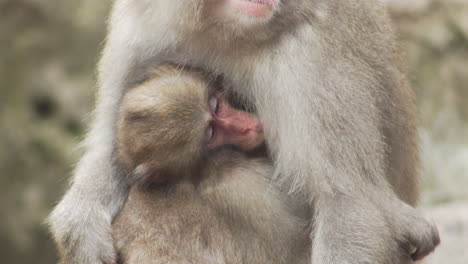
MULTIPOLYGON (((382 0, 418 95, 421 205, 468 263, 468 0, 382 0)), ((94 104, 110 0, 0 0, 0 256, 55 263, 44 218, 68 186, 94 104)))

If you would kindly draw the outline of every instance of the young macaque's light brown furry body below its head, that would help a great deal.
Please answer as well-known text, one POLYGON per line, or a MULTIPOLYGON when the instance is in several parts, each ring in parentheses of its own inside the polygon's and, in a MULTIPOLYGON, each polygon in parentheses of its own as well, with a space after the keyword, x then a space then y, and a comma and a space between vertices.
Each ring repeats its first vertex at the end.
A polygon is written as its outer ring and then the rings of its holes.
POLYGON ((131 189, 113 224, 123 263, 309 262, 310 226, 269 162, 227 151, 207 166, 200 185, 131 189))

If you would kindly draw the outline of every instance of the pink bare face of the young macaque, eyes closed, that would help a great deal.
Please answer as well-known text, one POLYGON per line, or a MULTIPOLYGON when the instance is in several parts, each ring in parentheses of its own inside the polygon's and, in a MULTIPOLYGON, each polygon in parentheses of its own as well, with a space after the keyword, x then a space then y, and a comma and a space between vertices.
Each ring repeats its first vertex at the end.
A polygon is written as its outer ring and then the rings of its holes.
POLYGON ((208 147, 216 149, 223 145, 234 145, 248 151, 260 145, 264 140, 260 120, 250 113, 232 108, 223 98, 216 97, 218 107, 215 111, 212 109, 214 136, 208 147))

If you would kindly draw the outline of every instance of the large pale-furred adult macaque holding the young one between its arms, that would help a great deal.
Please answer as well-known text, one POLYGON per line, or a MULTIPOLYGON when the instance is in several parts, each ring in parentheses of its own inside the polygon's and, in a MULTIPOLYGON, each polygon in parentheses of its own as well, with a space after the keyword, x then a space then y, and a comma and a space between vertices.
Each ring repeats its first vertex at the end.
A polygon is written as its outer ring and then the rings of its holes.
POLYGON ((417 134, 395 50, 377 0, 117 0, 87 152, 49 218, 59 247, 74 263, 115 258, 119 103, 148 65, 172 62, 221 75, 256 111, 279 180, 314 207, 312 263, 424 257, 439 237, 410 206, 417 134))

